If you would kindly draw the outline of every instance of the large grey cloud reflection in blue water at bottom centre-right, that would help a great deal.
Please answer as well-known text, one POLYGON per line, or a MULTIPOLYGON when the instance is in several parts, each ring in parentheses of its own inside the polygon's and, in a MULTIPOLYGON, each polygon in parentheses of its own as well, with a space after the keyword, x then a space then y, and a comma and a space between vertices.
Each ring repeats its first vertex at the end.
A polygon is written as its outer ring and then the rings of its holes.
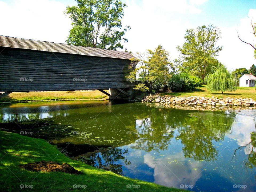
MULTIPOLYGON (((202 162, 186 159, 183 153, 153 159, 150 154, 144 155, 144 163, 154 169, 154 183, 179 187, 195 185, 202 176, 202 162)), ((185 189, 185 188, 184 188, 185 189)))

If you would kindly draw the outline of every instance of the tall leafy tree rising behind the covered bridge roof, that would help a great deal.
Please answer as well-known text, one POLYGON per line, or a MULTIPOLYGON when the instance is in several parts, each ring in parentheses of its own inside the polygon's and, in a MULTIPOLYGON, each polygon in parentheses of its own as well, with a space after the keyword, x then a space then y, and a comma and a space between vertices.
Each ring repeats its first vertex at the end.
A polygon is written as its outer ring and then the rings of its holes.
POLYGON ((71 45, 122 49, 123 37, 130 30, 122 29, 123 8, 120 0, 76 0, 77 6, 67 6, 66 13, 72 21, 72 29, 66 42, 71 45))

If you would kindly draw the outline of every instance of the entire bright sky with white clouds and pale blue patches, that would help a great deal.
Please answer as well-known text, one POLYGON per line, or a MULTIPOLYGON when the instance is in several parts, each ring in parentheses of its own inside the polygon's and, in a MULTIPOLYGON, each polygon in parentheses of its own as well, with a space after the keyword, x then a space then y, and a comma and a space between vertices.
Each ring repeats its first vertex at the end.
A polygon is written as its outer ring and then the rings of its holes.
MULTIPOLYGON (((221 30, 219 61, 228 69, 256 64, 254 50, 240 37, 256 43, 251 20, 256 22, 256 0, 122 0, 127 4, 122 20, 129 25, 124 49, 145 52, 159 44, 176 59, 176 47, 184 43, 186 29, 213 24, 221 30)), ((0 35, 65 43, 72 28, 63 12, 73 0, 0 0, 0 35)))

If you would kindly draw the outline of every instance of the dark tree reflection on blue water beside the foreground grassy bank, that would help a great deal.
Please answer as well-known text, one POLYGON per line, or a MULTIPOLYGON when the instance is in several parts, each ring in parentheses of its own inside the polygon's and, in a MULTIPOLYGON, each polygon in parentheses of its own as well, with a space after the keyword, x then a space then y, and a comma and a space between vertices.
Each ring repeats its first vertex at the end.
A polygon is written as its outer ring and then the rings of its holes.
POLYGON ((119 148, 110 148, 97 150, 95 152, 81 155, 80 157, 82 157, 83 162, 91 166, 98 167, 99 169, 110 170, 116 174, 122 175, 122 164, 117 162, 122 159, 125 165, 130 165, 131 162, 127 161, 123 156, 126 153, 128 153, 128 149, 123 150, 119 148))

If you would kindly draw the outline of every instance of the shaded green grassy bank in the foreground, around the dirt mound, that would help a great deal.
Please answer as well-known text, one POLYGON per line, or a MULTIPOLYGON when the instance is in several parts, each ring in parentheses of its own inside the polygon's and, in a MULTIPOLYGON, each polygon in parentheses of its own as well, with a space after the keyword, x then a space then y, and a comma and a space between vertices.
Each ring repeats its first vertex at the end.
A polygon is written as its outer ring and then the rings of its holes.
POLYGON ((43 139, 0 131, 0 141, 1 191, 184 191, 130 179, 71 160, 43 139), (20 164, 43 160, 68 163, 83 174, 33 172, 19 167, 20 164), (33 188, 21 189, 20 185, 33 185, 33 188), (74 188, 74 185, 80 188, 74 188), (134 187, 127 188, 127 185, 134 187))

